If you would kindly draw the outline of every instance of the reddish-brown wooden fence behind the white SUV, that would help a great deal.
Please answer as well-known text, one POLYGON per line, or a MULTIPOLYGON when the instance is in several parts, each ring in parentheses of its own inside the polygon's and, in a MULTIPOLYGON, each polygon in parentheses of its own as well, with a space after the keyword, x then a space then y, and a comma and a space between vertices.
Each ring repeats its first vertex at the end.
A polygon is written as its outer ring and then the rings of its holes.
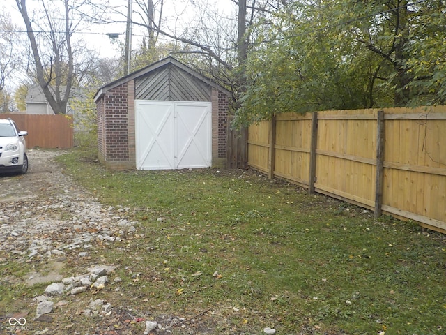
POLYGON ((27 131, 26 147, 69 149, 73 147, 72 117, 66 115, 0 114, 13 119, 21 131, 27 131))

